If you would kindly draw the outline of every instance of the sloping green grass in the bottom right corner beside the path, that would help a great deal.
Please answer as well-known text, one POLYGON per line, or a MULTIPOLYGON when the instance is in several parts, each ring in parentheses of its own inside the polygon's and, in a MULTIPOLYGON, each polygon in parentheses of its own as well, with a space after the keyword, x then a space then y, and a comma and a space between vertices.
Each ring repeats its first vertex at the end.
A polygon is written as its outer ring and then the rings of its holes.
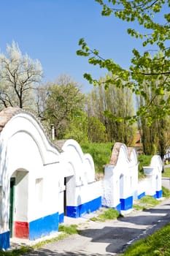
POLYGON ((137 241, 125 250, 123 256, 169 256, 170 225, 166 225, 151 236, 137 241))

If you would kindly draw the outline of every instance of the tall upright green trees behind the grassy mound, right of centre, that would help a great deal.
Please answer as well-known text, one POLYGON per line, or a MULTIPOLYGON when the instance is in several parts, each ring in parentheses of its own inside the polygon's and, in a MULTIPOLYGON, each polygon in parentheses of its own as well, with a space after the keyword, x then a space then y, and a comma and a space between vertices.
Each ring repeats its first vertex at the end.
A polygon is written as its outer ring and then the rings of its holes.
MULTIPOLYGON (((105 79, 108 80, 109 77, 107 75, 105 79)), ((119 141, 132 146, 136 133, 135 125, 124 119, 134 113, 131 90, 123 84, 121 87, 110 84, 105 89, 104 78, 101 82, 101 85, 90 93, 90 116, 96 116, 104 124, 109 141, 119 141)))

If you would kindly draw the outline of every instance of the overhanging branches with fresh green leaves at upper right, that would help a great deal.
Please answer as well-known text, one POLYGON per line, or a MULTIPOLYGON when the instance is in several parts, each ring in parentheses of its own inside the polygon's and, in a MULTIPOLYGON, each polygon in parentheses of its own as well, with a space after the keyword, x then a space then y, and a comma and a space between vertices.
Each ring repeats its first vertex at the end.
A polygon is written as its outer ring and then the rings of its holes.
MULTIPOLYGON (((134 58, 131 60, 131 67, 125 70, 120 65, 116 64, 112 59, 104 59, 100 56, 98 50, 90 49, 90 47, 85 42, 85 39, 80 39, 79 45, 81 50, 77 50, 77 54, 80 56, 88 57, 88 62, 93 65, 98 65, 101 68, 105 68, 108 72, 117 76, 117 79, 112 79, 114 81, 105 81, 105 85, 109 86, 115 84, 120 86, 122 80, 124 85, 132 89, 132 91, 141 95, 145 99, 147 95, 144 93, 143 80, 150 79, 150 77, 155 77, 162 81, 159 83, 159 88, 152 88, 153 94, 152 99, 147 98, 147 104, 136 112, 135 116, 131 116, 131 120, 139 118, 139 116, 144 116, 145 118, 155 119, 162 118, 163 115, 170 114, 170 97, 166 101, 160 102, 159 108, 154 105, 153 99, 159 97, 164 93, 165 90, 170 90, 169 88, 169 75, 170 75, 170 48, 169 48, 169 25, 170 25, 170 14, 169 12, 164 14, 163 7, 169 7, 170 1, 163 0, 134 0, 134 1, 111 1, 111 0, 96 0, 101 4, 103 10, 102 15, 109 16, 115 15, 115 17, 125 20, 127 22, 133 23, 137 21, 140 28, 143 27, 143 33, 136 31, 135 29, 128 29, 128 34, 132 37, 142 39, 143 47, 146 45, 154 45, 155 50, 161 52, 161 58, 152 58, 150 55, 150 50, 144 50, 144 53, 139 53, 138 50, 134 49, 134 58), (163 16, 163 24, 158 23, 156 15, 160 12, 163 16), (148 31, 148 32, 147 32, 148 31), (150 67, 150 69, 148 69, 150 67), (115 82, 115 83, 113 83, 115 82), (154 114, 156 113, 156 115, 154 114)), ((168 10, 168 8, 167 8, 168 10)), ((152 49, 151 49, 152 50, 152 49)), ((151 51, 152 53, 152 51, 151 51)), ((85 73, 84 77, 94 86, 100 85, 101 82, 92 77, 92 75, 85 73)))

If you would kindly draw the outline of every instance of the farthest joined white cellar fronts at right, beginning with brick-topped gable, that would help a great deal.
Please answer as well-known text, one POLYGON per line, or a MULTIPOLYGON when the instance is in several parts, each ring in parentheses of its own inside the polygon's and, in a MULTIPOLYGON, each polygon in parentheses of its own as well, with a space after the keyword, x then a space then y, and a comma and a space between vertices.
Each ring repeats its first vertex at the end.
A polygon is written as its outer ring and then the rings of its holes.
POLYGON ((144 195, 162 197, 160 156, 153 156, 149 167, 144 167, 146 178, 138 181, 138 162, 134 148, 115 143, 112 156, 104 170, 102 205, 124 212, 133 208, 135 199, 144 195))

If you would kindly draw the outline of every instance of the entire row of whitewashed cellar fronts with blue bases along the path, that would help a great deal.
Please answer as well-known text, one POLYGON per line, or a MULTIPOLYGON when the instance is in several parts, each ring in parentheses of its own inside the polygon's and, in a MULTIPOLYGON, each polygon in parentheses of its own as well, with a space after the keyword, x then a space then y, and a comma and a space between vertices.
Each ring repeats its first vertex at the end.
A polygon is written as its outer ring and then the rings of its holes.
POLYGON ((9 233, 36 239, 58 230, 64 215, 81 217, 106 207, 128 211, 144 195, 161 197, 159 156, 144 167, 138 182, 134 148, 115 143, 104 179, 95 180, 90 154, 75 140, 52 144, 39 121, 18 108, 0 113, 0 248, 9 248, 9 233), (59 145, 59 146, 58 146, 59 145), (9 230, 10 181, 15 182, 12 230, 9 230))

